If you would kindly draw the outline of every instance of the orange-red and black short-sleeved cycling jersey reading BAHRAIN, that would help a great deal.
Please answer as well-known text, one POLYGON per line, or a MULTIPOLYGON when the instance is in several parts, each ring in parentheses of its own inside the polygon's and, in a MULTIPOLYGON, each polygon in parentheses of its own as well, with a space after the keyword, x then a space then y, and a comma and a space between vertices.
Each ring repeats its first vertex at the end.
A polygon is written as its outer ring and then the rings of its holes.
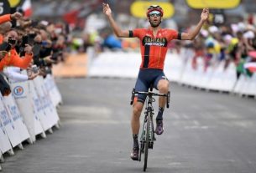
POLYGON ((172 39, 180 39, 181 34, 173 29, 160 28, 154 38, 149 28, 129 31, 130 38, 139 38, 142 62, 141 69, 164 69, 167 44, 172 39))

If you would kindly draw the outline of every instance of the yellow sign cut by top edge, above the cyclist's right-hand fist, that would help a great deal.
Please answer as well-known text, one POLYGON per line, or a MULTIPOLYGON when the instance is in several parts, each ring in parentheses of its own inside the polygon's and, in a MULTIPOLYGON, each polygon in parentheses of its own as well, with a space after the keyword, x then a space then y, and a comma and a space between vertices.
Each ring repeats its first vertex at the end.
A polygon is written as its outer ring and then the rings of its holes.
POLYGON ((186 0, 191 8, 237 8, 241 0, 186 0))

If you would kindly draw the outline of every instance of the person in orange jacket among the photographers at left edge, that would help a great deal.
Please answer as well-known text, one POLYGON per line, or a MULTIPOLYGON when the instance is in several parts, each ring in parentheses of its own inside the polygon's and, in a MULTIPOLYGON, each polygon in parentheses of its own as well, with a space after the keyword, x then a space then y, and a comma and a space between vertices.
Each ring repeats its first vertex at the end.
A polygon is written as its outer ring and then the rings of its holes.
POLYGON ((15 49, 15 46, 18 43, 18 33, 11 30, 5 39, 8 41, 8 47, 10 50, 6 50, 8 53, 6 53, 0 61, 0 71, 3 71, 6 66, 15 66, 21 69, 27 69, 33 58, 32 47, 29 44, 26 44, 26 47, 24 48, 25 56, 24 58, 20 58, 15 49))

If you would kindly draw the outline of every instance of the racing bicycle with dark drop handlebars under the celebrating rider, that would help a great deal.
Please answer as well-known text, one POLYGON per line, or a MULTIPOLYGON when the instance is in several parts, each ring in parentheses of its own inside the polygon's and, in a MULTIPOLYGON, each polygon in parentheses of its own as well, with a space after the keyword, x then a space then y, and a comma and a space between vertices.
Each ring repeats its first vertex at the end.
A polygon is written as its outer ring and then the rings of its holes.
POLYGON ((140 149, 139 149, 139 155, 138 155, 138 160, 141 161, 141 155, 144 154, 144 171, 146 171, 147 165, 148 165, 149 149, 153 149, 154 140, 156 140, 154 137, 154 123, 153 123, 154 109, 152 104, 155 101, 153 96, 166 97, 166 108, 169 108, 170 91, 168 91, 167 94, 157 94, 153 92, 152 86, 150 87, 149 92, 135 91, 135 89, 133 89, 131 102, 130 102, 131 105, 133 104, 133 99, 135 94, 147 95, 147 99, 146 99, 147 104, 144 111, 144 125, 140 135, 140 149))

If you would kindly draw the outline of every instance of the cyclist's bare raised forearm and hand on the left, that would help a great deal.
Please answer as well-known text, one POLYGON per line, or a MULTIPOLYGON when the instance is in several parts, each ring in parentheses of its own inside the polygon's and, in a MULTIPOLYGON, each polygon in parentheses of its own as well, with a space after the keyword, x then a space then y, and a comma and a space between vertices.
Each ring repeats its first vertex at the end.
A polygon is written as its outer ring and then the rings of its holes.
POLYGON ((108 19, 114 33, 119 38, 128 38, 129 37, 129 31, 128 30, 122 30, 121 28, 119 28, 118 24, 112 18, 112 11, 111 11, 111 8, 109 8, 109 5, 107 3, 102 3, 102 7, 103 7, 103 13, 106 14, 107 19, 108 19))

